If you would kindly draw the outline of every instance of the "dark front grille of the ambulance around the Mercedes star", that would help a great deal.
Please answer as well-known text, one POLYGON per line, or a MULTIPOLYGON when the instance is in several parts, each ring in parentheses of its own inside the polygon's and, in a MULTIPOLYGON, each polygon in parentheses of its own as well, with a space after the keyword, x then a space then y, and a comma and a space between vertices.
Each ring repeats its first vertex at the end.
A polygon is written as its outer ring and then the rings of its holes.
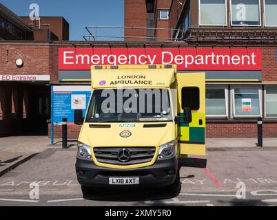
POLYGON ((114 165, 132 165, 143 164, 152 161, 156 148, 155 147, 94 147, 94 156, 97 161, 103 164, 114 165), (122 162, 119 159, 119 151, 127 150, 130 153, 130 159, 122 162))

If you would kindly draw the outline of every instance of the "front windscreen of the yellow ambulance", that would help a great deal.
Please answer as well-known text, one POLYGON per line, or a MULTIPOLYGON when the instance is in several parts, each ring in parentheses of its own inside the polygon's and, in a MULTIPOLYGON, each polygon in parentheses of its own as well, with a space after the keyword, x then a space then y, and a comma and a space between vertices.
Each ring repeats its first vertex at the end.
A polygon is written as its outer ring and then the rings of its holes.
POLYGON ((85 122, 172 121, 168 89, 96 89, 85 122))

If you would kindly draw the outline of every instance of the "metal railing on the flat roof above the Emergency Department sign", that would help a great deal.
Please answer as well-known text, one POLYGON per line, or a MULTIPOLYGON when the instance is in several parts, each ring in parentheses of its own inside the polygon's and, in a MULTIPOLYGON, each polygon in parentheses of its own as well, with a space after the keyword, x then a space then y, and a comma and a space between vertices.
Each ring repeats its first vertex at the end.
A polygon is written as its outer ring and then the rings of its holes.
POLYGON ((142 28, 142 27, 121 27, 121 26, 86 26, 85 30, 88 31, 87 35, 83 36, 85 41, 99 41, 99 39, 118 39, 119 41, 127 41, 127 39, 145 39, 146 41, 182 41, 184 32, 181 29, 174 28, 142 28), (101 31, 105 30, 110 32, 118 30, 117 34, 102 34, 101 31), (126 35, 125 30, 145 30, 145 36, 126 35), (147 32, 154 32, 153 36, 147 36, 147 32), (156 31, 166 32, 168 37, 156 37, 156 31))

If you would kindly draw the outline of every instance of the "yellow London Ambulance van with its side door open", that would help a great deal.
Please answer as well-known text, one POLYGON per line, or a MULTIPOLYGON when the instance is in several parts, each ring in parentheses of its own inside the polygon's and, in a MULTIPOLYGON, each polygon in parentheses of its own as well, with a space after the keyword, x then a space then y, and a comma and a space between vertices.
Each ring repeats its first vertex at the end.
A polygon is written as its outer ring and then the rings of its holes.
POLYGON ((205 73, 176 65, 96 65, 81 125, 76 175, 83 193, 106 186, 179 185, 178 159, 205 155, 205 73))

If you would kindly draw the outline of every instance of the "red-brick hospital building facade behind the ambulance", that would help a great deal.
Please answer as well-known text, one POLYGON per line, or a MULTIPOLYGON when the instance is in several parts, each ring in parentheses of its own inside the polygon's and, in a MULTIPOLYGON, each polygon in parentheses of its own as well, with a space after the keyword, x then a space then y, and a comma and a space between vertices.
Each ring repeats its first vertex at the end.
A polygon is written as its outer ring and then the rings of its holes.
MULTIPOLYGON (((147 47, 157 49, 170 47, 194 48, 196 51, 201 48, 211 50, 243 48, 246 51, 250 48, 260 49, 262 52, 260 71, 207 71, 211 76, 218 74, 220 77, 226 77, 226 80, 223 78, 207 79, 207 137, 256 137, 258 116, 263 117, 264 136, 276 137, 277 110, 274 106, 277 106, 277 48, 274 34, 277 34, 277 28, 263 27, 264 19, 260 20, 260 27, 237 27, 229 25, 231 22, 229 20, 226 26, 199 25, 198 3, 201 1, 125 1, 125 26, 180 29, 184 33, 183 41, 153 41, 164 36, 164 32, 159 32, 161 30, 158 29, 154 33, 147 29, 140 32, 134 30, 125 32, 126 36, 146 36, 149 39, 126 38, 124 42, 0 41, 1 76, 50 77, 49 80, 42 78, 36 82, 0 80, 0 135, 36 131, 39 124, 41 125, 39 128, 44 131, 48 130, 48 135, 50 135, 50 85, 90 85, 88 81, 72 80, 65 83, 59 78, 61 74, 59 48, 68 47, 72 50, 79 50, 108 47, 112 51, 115 47, 136 47, 144 48, 144 50, 147 47), (147 12, 147 7, 152 7, 152 10, 148 8, 147 12), (164 9, 168 9, 168 19, 158 19, 158 16, 161 16, 161 10, 164 9), (189 21, 185 18, 189 18, 189 21), (16 65, 18 58, 21 58, 23 65, 16 65), (234 75, 238 75, 238 78, 232 79, 234 75), (240 111, 242 99, 251 99, 252 108, 258 113, 244 115, 240 111), (224 112, 220 107, 225 108, 224 112)), ((229 17, 228 9, 231 5, 228 3, 226 6, 226 14, 229 17)), ((59 32, 54 33, 58 38, 67 36, 59 32)), ((166 34, 171 36, 169 32, 166 34)), ((174 34, 176 36, 179 33, 174 32, 174 34)), ((77 74, 80 73, 81 71, 77 71, 77 74)), ((68 125, 68 137, 77 137, 79 129, 80 126, 68 125)), ((54 137, 60 136, 61 126, 54 125, 54 137)))

